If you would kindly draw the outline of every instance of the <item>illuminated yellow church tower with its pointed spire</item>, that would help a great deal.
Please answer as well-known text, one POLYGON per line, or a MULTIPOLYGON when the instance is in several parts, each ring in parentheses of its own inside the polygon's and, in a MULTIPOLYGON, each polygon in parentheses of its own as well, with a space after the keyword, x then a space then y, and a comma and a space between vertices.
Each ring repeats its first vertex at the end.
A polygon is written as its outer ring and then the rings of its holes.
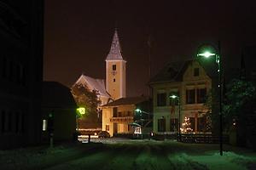
POLYGON ((126 61, 121 54, 117 30, 106 59, 106 89, 112 99, 126 97, 126 61))

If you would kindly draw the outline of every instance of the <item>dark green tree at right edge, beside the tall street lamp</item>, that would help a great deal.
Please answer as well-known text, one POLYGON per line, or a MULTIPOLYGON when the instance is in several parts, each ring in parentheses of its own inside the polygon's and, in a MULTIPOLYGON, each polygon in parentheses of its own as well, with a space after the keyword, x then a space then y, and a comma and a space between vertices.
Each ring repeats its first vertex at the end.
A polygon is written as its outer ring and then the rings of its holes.
POLYGON ((227 86, 227 93, 224 101, 224 127, 229 130, 230 127, 236 126, 238 144, 244 145, 247 139, 252 136, 247 131, 247 127, 255 123, 255 112, 253 111, 256 104, 256 89, 252 82, 246 82, 240 79, 233 79, 227 86), (251 123, 250 123, 251 122, 251 123))

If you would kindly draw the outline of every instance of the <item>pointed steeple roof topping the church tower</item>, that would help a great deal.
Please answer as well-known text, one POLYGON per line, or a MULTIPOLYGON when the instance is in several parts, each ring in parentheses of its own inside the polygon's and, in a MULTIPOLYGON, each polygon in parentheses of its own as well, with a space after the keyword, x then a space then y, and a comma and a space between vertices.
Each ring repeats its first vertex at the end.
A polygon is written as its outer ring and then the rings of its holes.
POLYGON ((117 33, 117 29, 115 29, 114 34, 113 34, 113 41, 111 44, 110 51, 108 53, 107 59, 106 60, 115 60, 115 59, 123 59, 122 54, 121 54, 121 47, 119 43, 119 36, 117 33))

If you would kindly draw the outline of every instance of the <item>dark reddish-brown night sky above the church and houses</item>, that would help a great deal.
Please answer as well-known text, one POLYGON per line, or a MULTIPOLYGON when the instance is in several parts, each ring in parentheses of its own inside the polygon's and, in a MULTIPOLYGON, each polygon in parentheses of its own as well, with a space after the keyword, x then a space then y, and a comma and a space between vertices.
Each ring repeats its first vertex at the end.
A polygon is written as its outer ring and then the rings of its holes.
POLYGON ((44 80, 70 87, 83 72, 105 78, 116 21, 129 96, 147 94, 149 34, 152 75, 218 40, 229 71, 238 67, 242 47, 256 45, 255 7, 253 0, 45 0, 44 80))

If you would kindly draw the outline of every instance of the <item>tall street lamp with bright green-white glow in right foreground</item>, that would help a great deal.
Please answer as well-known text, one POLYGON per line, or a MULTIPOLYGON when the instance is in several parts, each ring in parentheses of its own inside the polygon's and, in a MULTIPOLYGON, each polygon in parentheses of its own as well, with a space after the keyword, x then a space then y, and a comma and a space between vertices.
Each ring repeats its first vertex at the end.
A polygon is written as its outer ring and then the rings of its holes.
POLYGON ((218 42, 218 51, 212 45, 202 45, 197 51, 197 57, 210 58, 215 57, 218 65, 218 90, 219 90, 219 154, 223 156, 223 127, 222 127, 222 61, 220 57, 220 43, 218 42))

